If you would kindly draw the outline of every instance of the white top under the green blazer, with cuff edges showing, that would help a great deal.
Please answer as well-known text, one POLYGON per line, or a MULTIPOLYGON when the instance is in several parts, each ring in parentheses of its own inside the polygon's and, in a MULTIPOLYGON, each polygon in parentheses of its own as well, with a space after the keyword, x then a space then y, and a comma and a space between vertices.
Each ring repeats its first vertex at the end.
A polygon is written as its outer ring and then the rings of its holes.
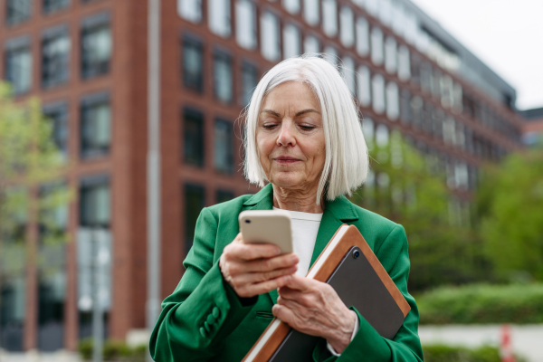
MULTIPOLYGON (((273 207, 273 210, 282 209, 273 207)), ((300 211, 291 210, 287 211, 291 214, 292 249, 294 250, 294 253, 298 255, 299 259, 296 274, 305 277, 310 270, 311 256, 313 255, 313 249, 315 249, 315 242, 317 242, 317 233, 319 233, 322 214, 302 213, 300 211)), ((357 319, 351 340, 355 338, 358 328, 359 321, 357 319)), ((340 356, 328 342, 326 347, 332 355, 340 356)))

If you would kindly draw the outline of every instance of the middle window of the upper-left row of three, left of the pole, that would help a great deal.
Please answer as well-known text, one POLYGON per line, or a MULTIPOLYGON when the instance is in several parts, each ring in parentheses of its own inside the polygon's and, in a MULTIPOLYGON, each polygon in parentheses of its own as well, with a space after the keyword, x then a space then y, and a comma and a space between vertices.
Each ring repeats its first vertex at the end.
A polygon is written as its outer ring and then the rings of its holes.
POLYGON ((66 26, 48 29, 42 39, 42 86, 50 88, 68 81, 70 38, 66 26))

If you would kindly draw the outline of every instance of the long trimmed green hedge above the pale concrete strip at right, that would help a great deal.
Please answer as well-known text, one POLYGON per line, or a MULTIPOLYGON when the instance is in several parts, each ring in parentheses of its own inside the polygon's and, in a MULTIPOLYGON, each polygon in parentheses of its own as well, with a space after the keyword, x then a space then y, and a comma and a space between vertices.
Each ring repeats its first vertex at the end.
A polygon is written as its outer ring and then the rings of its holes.
POLYGON ((543 323, 543 284, 442 287, 416 298, 421 324, 543 323))

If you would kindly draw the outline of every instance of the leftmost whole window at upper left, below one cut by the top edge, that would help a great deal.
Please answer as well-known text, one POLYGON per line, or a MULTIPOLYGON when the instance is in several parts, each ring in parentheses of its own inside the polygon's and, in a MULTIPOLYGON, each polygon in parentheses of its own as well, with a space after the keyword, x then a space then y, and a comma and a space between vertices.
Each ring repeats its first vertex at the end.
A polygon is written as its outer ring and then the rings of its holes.
POLYGON ((14 94, 23 94, 32 87, 32 52, 27 36, 5 42, 5 79, 14 94))

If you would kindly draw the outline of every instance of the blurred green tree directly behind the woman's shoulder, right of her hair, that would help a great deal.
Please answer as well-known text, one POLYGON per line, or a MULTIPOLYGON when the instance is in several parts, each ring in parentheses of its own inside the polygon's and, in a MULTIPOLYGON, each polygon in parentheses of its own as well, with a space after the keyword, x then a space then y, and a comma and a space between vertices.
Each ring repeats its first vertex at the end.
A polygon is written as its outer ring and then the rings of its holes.
POLYGON ((485 280, 488 267, 470 216, 451 212, 457 202, 443 170, 397 132, 379 146, 368 143, 370 176, 351 200, 402 224, 409 241, 409 287, 421 291, 441 284, 485 280))

